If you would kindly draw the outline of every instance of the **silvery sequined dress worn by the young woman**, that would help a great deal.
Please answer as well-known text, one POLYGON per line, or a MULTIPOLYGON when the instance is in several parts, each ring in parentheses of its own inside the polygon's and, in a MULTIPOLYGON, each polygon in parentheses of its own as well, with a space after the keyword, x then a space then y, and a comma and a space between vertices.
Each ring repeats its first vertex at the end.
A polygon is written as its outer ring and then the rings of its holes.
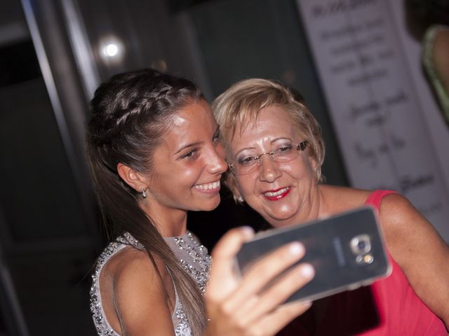
MULTIPOLYGON (((165 238, 165 240, 173 253, 175 253, 175 256, 180 260, 182 267, 184 267, 186 272, 196 281, 201 293, 204 293, 211 262, 207 248, 201 245, 199 240, 188 231, 185 235, 168 237, 165 238)), ((111 325, 109 325, 106 319, 105 312, 102 309, 98 279, 100 279, 100 272, 106 262, 126 246, 134 246, 135 248, 142 249, 142 244, 130 234, 126 233, 117 238, 116 241, 112 241, 112 243, 105 248, 100 255, 100 258, 98 258, 95 272, 92 275, 91 312, 93 314, 93 323, 95 324, 98 335, 120 336, 119 333, 111 328, 111 325)), ((182 309, 182 302, 180 302, 176 288, 175 302, 175 309, 172 314, 175 335, 191 336, 192 331, 190 330, 189 321, 187 321, 182 309)))

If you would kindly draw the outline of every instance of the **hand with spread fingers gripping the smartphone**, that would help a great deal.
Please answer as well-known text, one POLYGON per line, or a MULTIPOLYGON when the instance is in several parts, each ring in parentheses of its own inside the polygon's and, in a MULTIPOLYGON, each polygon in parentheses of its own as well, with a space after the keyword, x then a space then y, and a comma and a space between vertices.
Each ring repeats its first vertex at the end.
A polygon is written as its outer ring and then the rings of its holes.
POLYGON ((274 251, 255 263, 242 279, 234 274, 234 256, 252 235, 248 229, 231 230, 213 250, 213 266, 206 290, 210 321, 203 336, 274 335, 310 307, 304 302, 282 304, 313 277, 310 265, 293 267, 266 289, 267 283, 279 272, 302 258, 304 248, 299 243, 274 251))

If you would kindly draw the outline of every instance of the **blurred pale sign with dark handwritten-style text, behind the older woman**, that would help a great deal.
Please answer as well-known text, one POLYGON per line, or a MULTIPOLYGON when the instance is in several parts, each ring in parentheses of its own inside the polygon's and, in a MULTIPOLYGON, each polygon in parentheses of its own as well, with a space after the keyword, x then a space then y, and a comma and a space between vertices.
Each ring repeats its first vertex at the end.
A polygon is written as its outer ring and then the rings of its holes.
MULTIPOLYGON (((351 186, 397 190, 449 241, 449 190, 388 0, 297 0, 351 186)), ((446 168, 447 169, 447 168, 446 168)))

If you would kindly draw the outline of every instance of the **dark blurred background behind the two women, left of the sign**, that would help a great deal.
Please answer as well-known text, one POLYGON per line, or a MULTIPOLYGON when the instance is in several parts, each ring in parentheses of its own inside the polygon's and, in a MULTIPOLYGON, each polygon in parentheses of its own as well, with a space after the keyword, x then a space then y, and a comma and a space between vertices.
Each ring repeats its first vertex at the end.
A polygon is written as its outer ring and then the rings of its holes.
MULTIPOLYGON (((243 78, 295 87, 323 128, 326 181, 350 184, 298 1, 2 0, 0 336, 95 335, 88 290, 105 237, 83 156, 88 102, 147 66, 193 78, 210 102, 243 78)), ((208 248, 262 224, 222 199, 189 217, 208 248)))

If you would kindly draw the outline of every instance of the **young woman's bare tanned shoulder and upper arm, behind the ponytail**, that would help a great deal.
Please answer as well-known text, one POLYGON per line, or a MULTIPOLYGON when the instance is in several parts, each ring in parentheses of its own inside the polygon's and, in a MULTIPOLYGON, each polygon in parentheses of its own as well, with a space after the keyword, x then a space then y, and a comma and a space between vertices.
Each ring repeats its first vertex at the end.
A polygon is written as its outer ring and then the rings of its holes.
MULTIPOLYGON (((137 250, 127 251, 121 265, 114 274, 113 286, 121 335, 173 336, 173 308, 168 307, 168 289, 164 289, 148 255, 137 250)), ((165 267, 159 268, 165 274, 165 267)))

